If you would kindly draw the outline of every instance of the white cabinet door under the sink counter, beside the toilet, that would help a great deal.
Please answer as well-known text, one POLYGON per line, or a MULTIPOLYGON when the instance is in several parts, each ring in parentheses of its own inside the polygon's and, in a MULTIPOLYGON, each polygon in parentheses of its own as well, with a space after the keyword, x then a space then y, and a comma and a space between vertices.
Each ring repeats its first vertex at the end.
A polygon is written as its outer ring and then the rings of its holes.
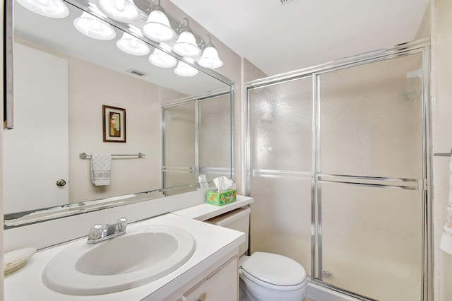
POLYGON ((233 257, 182 295, 182 301, 237 301, 238 259, 233 257))

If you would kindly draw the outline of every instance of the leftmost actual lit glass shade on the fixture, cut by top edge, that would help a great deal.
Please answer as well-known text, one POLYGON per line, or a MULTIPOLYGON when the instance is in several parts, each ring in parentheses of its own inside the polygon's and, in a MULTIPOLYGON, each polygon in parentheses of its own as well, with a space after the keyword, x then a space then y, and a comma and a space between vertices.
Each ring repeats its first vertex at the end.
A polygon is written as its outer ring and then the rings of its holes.
POLYGON ((133 23, 140 18, 138 8, 130 0, 99 0, 98 7, 108 18, 122 23, 133 23))

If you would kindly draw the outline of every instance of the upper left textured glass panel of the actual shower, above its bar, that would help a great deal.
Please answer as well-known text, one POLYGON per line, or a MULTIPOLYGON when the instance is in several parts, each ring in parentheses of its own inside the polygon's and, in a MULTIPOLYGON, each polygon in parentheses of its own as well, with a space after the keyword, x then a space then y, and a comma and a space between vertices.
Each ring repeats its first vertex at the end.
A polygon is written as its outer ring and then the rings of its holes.
POLYGON ((251 168, 311 171, 312 80, 249 90, 251 168))

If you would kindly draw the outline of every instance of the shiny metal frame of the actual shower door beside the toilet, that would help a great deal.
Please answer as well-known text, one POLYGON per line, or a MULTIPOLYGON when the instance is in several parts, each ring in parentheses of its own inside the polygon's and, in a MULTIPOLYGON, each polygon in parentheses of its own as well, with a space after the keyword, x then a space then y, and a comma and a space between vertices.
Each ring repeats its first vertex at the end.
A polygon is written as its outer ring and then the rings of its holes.
MULTIPOLYGON (((312 170, 311 170, 311 279, 312 283, 330 288, 357 297, 360 300, 371 300, 367 297, 350 293, 346 290, 336 288, 322 281, 322 221, 321 221, 321 182, 329 182, 328 177, 340 177, 336 175, 322 175, 320 156, 320 93, 319 78, 321 74, 340 69, 347 69, 355 66, 371 64, 377 61, 385 61, 396 57, 403 57, 410 54, 422 54, 422 179, 388 179, 378 178, 378 180, 400 181, 403 184, 396 185, 399 189, 422 190, 422 288, 420 300, 433 300, 433 243, 432 243, 432 162, 431 162, 431 119, 430 119, 430 41, 427 39, 412 41, 393 47, 379 49, 374 52, 359 54, 354 57, 340 59, 327 64, 313 66, 307 69, 292 71, 278 76, 270 76, 257 81, 245 84, 246 88, 246 195, 251 196, 251 128, 250 128, 250 90, 262 88, 269 85, 278 85, 293 81, 298 78, 311 76, 312 79, 312 170), (427 189, 428 188, 428 189, 427 189)), ((359 179, 377 179, 372 177, 356 177, 359 179)), ((340 179, 333 179, 340 182, 340 179)), ((364 184, 367 185, 367 184, 364 184)), ((369 184, 372 185, 372 184, 369 184)), ((381 185, 385 187, 386 185, 381 185)), ((393 188, 393 185, 388 187, 393 188)))

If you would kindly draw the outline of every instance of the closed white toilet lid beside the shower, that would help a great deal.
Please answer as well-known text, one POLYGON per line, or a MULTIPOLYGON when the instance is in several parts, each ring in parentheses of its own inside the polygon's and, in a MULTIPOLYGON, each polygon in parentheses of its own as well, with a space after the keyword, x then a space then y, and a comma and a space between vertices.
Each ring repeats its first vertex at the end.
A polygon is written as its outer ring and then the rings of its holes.
POLYGON ((306 271, 301 264, 272 253, 254 252, 242 269, 254 278, 273 285, 299 285, 306 279, 306 271))

